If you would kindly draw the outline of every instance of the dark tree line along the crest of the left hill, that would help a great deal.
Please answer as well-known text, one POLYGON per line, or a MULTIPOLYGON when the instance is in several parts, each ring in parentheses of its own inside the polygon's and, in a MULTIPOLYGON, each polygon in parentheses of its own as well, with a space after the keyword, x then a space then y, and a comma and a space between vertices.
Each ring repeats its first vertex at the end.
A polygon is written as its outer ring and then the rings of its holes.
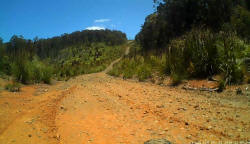
POLYGON ((10 42, 6 43, 6 48, 8 54, 13 57, 26 54, 26 56, 37 55, 42 59, 47 59, 55 58, 60 51, 75 45, 105 43, 114 46, 124 44, 126 41, 126 34, 120 31, 84 30, 48 39, 38 39, 36 37, 34 40, 26 40, 23 36, 14 35, 10 42))

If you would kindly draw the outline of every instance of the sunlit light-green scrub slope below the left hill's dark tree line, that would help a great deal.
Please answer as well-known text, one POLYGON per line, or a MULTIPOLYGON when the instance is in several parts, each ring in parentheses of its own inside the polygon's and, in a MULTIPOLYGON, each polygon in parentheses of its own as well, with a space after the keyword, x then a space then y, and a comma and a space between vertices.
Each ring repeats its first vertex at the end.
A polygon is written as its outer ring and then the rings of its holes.
POLYGON ((122 56, 125 45, 105 43, 76 45, 62 50, 54 62, 58 78, 103 71, 113 60, 122 56))

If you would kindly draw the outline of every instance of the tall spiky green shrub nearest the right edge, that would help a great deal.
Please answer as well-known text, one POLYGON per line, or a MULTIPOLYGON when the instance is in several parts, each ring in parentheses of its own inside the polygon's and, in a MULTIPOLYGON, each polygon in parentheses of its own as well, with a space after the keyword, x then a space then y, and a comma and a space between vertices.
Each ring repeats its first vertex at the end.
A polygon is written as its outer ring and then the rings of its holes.
POLYGON ((234 33, 222 32, 217 42, 220 51, 220 71, 226 84, 240 84, 244 80, 243 60, 247 45, 234 33))

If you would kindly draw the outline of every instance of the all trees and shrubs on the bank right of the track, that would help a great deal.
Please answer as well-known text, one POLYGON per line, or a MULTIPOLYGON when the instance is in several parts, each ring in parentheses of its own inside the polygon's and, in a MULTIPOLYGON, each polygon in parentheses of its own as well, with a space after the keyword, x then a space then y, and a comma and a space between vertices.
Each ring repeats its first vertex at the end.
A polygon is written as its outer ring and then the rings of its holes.
POLYGON ((140 81, 170 76, 184 79, 220 75, 219 87, 249 81, 249 2, 233 0, 155 1, 130 55, 110 75, 140 81))

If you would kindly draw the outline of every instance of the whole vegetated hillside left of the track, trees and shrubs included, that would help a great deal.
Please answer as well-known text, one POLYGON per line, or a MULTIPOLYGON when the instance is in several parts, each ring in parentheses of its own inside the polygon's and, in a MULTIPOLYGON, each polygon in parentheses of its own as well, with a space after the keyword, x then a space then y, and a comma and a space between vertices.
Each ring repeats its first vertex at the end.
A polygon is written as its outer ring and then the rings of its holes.
POLYGON ((50 84, 51 79, 67 80, 79 74, 100 72, 125 50, 126 35, 120 31, 81 31, 50 39, 26 40, 13 36, 0 39, 0 76, 17 83, 50 84))

